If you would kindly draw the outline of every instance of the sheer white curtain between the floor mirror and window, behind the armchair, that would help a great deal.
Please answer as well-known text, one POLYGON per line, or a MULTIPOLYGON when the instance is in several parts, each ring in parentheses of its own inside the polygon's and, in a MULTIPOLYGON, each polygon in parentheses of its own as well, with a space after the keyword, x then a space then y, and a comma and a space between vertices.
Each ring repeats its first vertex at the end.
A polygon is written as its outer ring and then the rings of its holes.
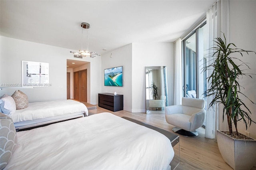
POLYGON ((181 38, 174 42, 174 105, 182 103, 182 55, 181 38))

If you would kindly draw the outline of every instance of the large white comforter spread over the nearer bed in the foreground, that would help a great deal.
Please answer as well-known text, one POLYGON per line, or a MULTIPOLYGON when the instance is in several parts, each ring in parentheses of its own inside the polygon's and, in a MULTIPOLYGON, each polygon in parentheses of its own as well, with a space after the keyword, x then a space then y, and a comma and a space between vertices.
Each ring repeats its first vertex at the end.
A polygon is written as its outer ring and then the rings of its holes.
POLYGON ((17 134, 6 170, 161 170, 174 156, 166 136, 111 113, 17 134))

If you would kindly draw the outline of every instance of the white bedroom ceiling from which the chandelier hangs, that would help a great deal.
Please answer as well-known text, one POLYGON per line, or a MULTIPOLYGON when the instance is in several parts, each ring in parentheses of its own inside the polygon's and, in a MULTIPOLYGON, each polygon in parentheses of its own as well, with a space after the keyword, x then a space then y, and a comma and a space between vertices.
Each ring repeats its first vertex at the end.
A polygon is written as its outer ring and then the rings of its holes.
POLYGON ((1 0, 0 35, 104 54, 135 42, 174 42, 216 0, 1 0), (83 47, 86 47, 84 29, 83 47), (107 51, 103 49, 106 48, 107 51))

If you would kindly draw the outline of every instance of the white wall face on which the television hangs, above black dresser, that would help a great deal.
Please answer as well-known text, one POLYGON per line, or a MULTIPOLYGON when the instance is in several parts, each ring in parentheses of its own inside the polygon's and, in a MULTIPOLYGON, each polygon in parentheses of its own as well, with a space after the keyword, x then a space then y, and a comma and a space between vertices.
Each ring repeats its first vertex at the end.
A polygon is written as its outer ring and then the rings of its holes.
POLYGON ((132 44, 125 45, 102 56, 102 93, 124 95, 124 110, 132 112, 132 44), (112 53, 112 57, 110 57, 112 53), (123 66, 123 87, 104 86, 104 69, 123 66))

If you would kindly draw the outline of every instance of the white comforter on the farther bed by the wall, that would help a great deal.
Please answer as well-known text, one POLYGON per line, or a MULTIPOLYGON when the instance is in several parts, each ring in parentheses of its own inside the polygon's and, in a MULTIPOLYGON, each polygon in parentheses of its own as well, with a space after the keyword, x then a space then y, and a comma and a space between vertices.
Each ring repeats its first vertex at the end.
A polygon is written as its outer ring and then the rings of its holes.
POLYGON ((74 100, 58 100, 28 103, 28 107, 16 110, 11 115, 14 123, 22 121, 33 121, 49 117, 61 116, 70 113, 85 112, 88 115, 87 107, 74 100))

